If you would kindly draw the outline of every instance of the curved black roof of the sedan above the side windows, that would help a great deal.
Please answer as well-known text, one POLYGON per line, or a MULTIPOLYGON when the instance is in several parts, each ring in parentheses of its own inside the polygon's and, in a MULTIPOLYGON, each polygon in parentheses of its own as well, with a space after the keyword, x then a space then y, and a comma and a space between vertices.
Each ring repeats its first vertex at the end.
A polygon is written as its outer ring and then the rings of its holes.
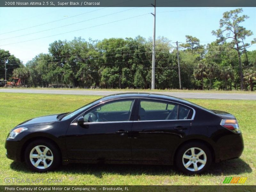
POLYGON ((100 100, 112 100, 112 99, 122 99, 122 98, 152 98, 152 99, 162 99, 162 100, 173 100, 179 101, 180 98, 172 97, 170 95, 156 94, 156 93, 147 93, 147 92, 127 92, 127 93, 117 93, 113 95, 108 95, 102 97, 100 100))

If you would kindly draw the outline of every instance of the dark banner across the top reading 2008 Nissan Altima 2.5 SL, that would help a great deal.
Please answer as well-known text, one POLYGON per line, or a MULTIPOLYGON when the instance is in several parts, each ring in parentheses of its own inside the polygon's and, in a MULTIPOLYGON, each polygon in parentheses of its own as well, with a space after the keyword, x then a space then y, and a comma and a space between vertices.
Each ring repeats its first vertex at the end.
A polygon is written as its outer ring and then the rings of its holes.
MULTIPOLYGON (((154 0, 1 0, 0 7, 151 7, 154 0)), ((255 7, 255 0, 156 0, 157 7, 255 7)))

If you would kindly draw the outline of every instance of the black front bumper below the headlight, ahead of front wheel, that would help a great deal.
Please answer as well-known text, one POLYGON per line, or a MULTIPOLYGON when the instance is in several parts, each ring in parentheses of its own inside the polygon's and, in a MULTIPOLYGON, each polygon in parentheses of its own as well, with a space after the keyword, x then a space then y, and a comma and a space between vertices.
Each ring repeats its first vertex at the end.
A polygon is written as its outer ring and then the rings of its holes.
POLYGON ((7 138, 5 140, 5 146, 4 147, 6 148, 6 156, 7 156, 8 159, 12 159, 14 161, 21 161, 21 158, 20 158, 20 150, 21 150, 20 141, 7 138))

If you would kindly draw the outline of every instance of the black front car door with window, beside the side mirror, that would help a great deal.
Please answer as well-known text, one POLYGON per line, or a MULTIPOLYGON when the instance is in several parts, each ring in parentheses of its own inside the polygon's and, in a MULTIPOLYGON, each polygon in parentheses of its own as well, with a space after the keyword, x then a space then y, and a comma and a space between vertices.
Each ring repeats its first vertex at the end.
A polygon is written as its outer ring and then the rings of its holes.
POLYGON ((84 124, 73 121, 66 136, 70 159, 131 160, 134 99, 108 101, 85 112, 84 124))

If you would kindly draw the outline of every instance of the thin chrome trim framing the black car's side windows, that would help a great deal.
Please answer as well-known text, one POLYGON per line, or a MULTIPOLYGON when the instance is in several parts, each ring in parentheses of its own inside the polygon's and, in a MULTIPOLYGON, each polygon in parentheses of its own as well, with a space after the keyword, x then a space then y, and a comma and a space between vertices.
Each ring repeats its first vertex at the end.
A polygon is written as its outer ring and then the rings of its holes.
MULTIPOLYGON (((125 122, 154 122, 154 121, 191 121, 191 120, 194 120, 194 117, 195 117, 195 115, 196 115, 196 110, 195 110, 194 108, 189 107, 189 106, 187 106, 187 105, 185 105, 185 104, 183 104, 183 103, 178 103, 178 102, 175 102, 175 101, 164 100, 164 99, 156 99, 156 98, 124 97, 124 98, 116 98, 116 99, 107 100, 107 101, 100 101, 99 104, 97 104, 97 105, 95 105, 95 106, 93 106, 93 107, 87 109, 86 111, 80 113, 80 114, 71 122, 70 125, 77 125, 77 123, 73 123, 73 122, 74 122, 79 116, 81 116, 83 113, 86 113, 87 111, 91 110, 92 108, 97 107, 98 105, 102 105, 102 104, 105 103, 105 102, 110 102, 110 101, 115 101, 115 100, 123 100, 123 99, 133 99, 133 100, 135 100, 135 99, 140 99, 140 100, 141 100, 141 99, 148 99, 148 100, 160 100, 160 101, 167 101, 167 102, 171 102, 171 103, 177 103, 178 105, 183 105, 183 106, 186 106, 186 107, 192 109, 192 110, 193 110, 193 115, 192 115, 191 119, 177 119, 177 120, 146 120, 146 121, 119 121, 119 122, 118 122, 118 121, 108 121, 108 122, 90 122, 90 123, 84 123, 84 124, 95 124, 95 123, 120 123, 120 122, 123 122, 123 123, 125 123, 125 122)), ((133 102, 133 104, 134 104, 134 102, 133 102)))

